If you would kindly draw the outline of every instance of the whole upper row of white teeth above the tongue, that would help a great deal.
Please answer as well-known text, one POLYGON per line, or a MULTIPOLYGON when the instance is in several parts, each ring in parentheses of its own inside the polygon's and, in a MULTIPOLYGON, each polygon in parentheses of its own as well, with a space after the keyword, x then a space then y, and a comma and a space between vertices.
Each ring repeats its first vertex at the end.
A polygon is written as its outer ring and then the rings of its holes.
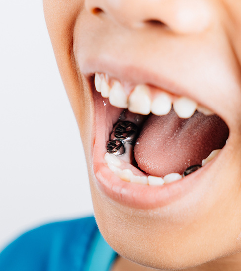
POLYGON ((208 108, 198 105, 195 101, 187 97, 173 97, 164 91, 158 94, 152 93, 147 85, 137 85, 131 94, 127 95, 122 84, 117 80, 112 80, 109 84, 107 75, 95 73, 95 88, 102 97, 109 98, 111 105, 117 108, 128 108, 130 112, 148 115, 166 115, 170 112, 172 104, 176 114, 180 118, 190 118, 196 109, 206 115, 213 112, 208 108))

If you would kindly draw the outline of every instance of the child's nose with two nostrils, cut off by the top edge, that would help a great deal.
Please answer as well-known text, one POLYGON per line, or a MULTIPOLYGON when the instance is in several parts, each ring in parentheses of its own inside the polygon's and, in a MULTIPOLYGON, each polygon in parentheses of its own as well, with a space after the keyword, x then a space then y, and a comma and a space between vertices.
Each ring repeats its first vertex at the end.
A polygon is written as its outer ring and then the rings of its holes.
POLYGON ((155 25, 179 34, 200 33, 212 18, 208 0, 86 0, 85 6, 125 27, 155 25))

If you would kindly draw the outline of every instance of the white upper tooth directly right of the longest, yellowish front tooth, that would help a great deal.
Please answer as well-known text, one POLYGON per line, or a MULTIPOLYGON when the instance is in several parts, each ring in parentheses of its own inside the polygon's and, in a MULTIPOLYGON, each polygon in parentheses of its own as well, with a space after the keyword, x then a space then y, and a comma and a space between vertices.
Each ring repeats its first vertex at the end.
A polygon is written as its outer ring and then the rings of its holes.
POLYGON ((154 115, 163 116, 167 115, 172 106, 172 100, 166 93, 160 93, 152 101, 151 111, 154 115))

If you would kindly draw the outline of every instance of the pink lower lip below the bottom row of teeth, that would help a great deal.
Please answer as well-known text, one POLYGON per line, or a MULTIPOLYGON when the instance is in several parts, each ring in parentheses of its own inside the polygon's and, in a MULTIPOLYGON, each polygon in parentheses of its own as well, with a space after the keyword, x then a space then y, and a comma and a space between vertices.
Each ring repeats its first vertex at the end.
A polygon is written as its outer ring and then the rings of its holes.
POLYGON ((192 175, 163 186, 129 183, 115 176, 94 154, 93 169, 100 190, 112 200, 132 208, 154 209, 166 206, 188 194, 199 183, 199 169, 192 175))

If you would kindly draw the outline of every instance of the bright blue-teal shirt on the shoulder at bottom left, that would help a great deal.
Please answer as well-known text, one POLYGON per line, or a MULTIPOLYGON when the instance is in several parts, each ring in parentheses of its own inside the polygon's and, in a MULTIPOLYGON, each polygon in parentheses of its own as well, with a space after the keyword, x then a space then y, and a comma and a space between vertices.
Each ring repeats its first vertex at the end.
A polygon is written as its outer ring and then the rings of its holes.
POLYGON ((0 271, 110 271, 116 257, 86 217, 23 234, 0 253, 0 271))

